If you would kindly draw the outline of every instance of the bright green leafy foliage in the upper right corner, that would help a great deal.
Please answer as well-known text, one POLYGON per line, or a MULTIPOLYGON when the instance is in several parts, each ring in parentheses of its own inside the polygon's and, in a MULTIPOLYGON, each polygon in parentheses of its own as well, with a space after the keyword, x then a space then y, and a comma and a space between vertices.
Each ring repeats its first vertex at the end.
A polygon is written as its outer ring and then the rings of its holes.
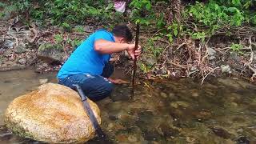
MULTIPOLYGON (((196 2, 187 6, 183 13, 185 18, 193 18, 197 28, 205 32, 203 35, 214 35, 216 31, 224 27, 242 26, 242 24, 254 24, 255 11, 250 11, 251 0, 210 0, 210 2, 196 2)), ((194 24, 195 25, 195 24, 194 24)), ((198 31, 192 33, 193 38, 202 38, 198 31), (196 34, 194 34, 196 33, 196 34)))

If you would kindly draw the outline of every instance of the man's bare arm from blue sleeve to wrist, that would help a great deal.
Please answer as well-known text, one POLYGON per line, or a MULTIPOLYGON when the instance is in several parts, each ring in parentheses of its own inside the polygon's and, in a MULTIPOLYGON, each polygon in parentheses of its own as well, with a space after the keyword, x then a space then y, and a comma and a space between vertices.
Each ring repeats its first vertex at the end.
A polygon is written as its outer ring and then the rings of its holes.
POLYGON ((112 54, 127 50, 128 48, 129 44, 127 43, 109 42, 103 39, 99 39, 94 43, 94 50, 101 54, 112 54))

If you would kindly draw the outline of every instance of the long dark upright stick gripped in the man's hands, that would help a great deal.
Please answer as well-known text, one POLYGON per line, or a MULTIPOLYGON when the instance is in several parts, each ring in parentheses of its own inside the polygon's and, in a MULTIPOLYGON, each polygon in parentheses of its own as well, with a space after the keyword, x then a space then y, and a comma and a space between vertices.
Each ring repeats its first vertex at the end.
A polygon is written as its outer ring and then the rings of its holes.
MULTIPOLYGON (((139 22, 137 23, 136 27, 136 38, 135 38, 135 49, 134 49, 134 54, 135 50, 138 49, 138 35, 139 35, 139 22)), ((131 90, 131 98, 134 98, 134 85, 135 85, 135 76, 136 76, 136 71, 137 71, 137 58, 134 55, 134 73, 133 73, 133 79, 132 79, 132 90, 131 90)))

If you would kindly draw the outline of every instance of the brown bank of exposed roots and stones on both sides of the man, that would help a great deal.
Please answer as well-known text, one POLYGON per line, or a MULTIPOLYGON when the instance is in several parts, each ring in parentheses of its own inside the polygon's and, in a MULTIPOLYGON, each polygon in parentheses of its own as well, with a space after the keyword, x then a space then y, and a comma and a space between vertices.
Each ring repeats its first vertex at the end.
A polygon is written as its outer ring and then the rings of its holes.
MULTIPOLYGON (((24 26, 19 21, 1 22, 0 25, 0 70, 34 66, 39 73, 59 70, 79 42, 100 27, 82 26, 84 32, 77 32, 76 28, 67 32, 62 27, 39 27, 34 23, 24 26)), ((190 77, 204 81, 210 76, 235 76, 252 82, 255 80, 254 35, 241 38, 216 35, 204 43, 191 38, 176 39, 173 44, 159 40, 152 45, 164 48, 158 57, 148 50, 146 35, 142 31, 141 45, 145 50, 138 62, 142 78, 190 77), (235 46, 242 47, 236 50, 235 46)), ((116 67, 126 67, 126 74, 131 74, 132 62, 125 53, 113 54, 112 62, 116 67)))

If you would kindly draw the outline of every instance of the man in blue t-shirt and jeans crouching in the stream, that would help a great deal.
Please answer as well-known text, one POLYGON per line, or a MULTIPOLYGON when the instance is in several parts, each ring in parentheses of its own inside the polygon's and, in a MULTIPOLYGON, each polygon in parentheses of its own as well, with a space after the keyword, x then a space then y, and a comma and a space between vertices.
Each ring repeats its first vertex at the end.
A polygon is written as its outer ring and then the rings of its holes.
POLYGON ((134 53, 133 36, 127 26, 114 26, 112 32, 98 30, 91 34, 74 52, 58 72, 58 83, 75 89, 81 86, 87 97, 94 101, 106 98, 113 89, 110 75, 110 54, 127 50, 131 58, 141 54, 141 46, 134 53))

